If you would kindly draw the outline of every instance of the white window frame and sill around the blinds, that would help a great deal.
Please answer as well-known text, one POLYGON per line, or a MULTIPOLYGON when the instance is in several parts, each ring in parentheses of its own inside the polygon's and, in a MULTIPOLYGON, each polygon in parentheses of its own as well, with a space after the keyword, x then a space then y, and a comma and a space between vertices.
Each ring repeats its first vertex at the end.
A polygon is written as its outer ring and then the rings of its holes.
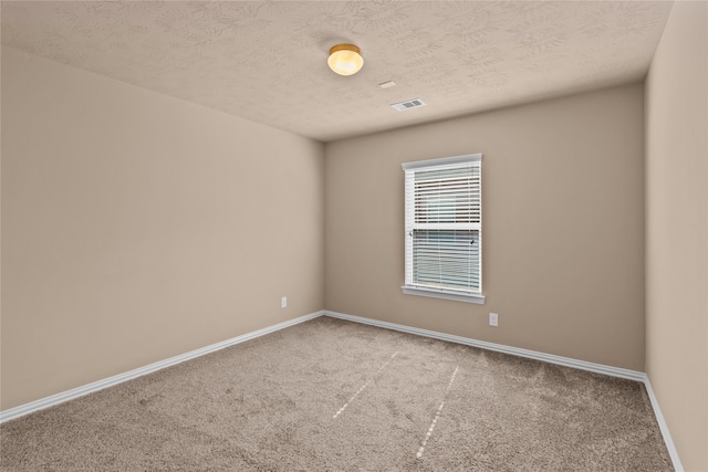
MULTIPOLYGON (((467 302, 467 303, 476 303, 483 304, 485 295, 482 293, 482 201, 481 201, 481 185, 482 185, 482 174, 481 174, 481 161, 482 155, 478 154, 467 154, 462 156, 452 156, 452 157, 444 157, 438 159, 427 159, 427 160, 417 160, 412 162, 403 162, 402 168, 405 174, 405 284, 400 287, 403 293, 406 295, 419 295, 419 296, 429 296, 435 298, 444 298, 444 300, 454 300, 458 302, 467 302), (472 166, 478 166, 479 168, 479 195, 477 196, 479 201, 479 223, 451 223, 450 227, 458 227, 459 230, 464 231, 478 231, 478 240, 479 244, 478 251, 478 260, 479 266, 479 291, 466 291, 459 289, 451 287, 440 287, 440 286, 431 286, 425 284, 416 284, 413 282, 413 231, 416 224, 415 216, 415 200, 416 200, 416 191, 415 191, 415 174, 419 171, 429 171, 429 170, 442 170, 445 168, 457 167, 462 165, 472 164, 472 166), (414 176, 413 178, 408 178, 408 176, 414 176)), ((466 211, 472 207, 472 203, 467 204, 466 211)), ((418 230, 423 228, 416 228, 418 230)))

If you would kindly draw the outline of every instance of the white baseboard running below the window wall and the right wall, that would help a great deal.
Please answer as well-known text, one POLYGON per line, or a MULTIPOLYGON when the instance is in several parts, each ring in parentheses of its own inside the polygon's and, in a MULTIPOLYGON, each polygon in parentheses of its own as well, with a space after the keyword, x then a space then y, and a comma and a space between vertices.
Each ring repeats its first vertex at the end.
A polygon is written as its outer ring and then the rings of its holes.
POLYGON ((544 363, 556 364, 560 366, 573 367, 580 370, 587 370, 596 374, 604 374, 612 377, 620 377, 628 380, 635 380, 643 382, 646 387, 646 391, 649 396, 649 400, 652 401, 652 407, 654 408, 654 416, 656 417, 656 421, 659 426, 659 430, 662 431, 662 436, 664 438, 664 442, 666 443, 666 449, 671 458, 671 462, 674 463, 674 469, 676 472, 683 472, 684 466, 678 457, 678 452, 676 447, 674 445, 674 441, 671 440, 671 434, 668 430, 668 424, 664 420, 664 416, 662 415, 662 409, 659 408, 658 400, 654 395, 654 389, 652 388, 652 382, 649 381, 649 377, 645 373, 641 373, 637 370, 623 369, 620 367, 605 366, 603 364, 587 363, 585 360, 577 360, 570 357, 554 356, 552 354, 539 353, 537 350, 521 349, 518 347, 504 346, 502 344, 487 343, 485 340, 472 339, 468 337, 455 336, 446 333, 439 333, 428 329, 420 329, 416 327, 410 327, 406 325, 399 325, 395 323, 382 322, 378 319, 364 318, 362 316, 347 315, 344 313, 323 311, 325 316, 330 316, 333 318, 346 319, 354 323, 363 323, 366 325, 378 326, 387 329, 395 329, 404 333, 409 333, 418 336, 430 337, 435 339, 447 340, 450 343, 464 344, 466 346, 479 347, 488 350, 496 350, 498 353, 511 354, 513 356, 527 357, 530 359, 541 360, 544 363))

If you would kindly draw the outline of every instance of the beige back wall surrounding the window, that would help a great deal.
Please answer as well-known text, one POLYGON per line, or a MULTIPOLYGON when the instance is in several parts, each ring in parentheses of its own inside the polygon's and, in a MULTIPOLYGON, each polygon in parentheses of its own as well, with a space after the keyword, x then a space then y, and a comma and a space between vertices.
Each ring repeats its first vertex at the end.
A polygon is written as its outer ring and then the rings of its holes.
POLYGON ((327 144, 325 308, 644 370, 643 93, 633 84, 327 144), (483 154, 487 301, 403 295, 400 162, 469 153, 483 154))

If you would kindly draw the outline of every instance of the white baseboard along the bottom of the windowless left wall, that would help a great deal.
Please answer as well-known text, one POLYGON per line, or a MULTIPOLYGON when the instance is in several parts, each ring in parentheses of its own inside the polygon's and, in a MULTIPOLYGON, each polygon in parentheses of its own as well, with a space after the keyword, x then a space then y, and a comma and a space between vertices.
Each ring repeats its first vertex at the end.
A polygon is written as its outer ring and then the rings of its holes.
POLYGON ((216 350, 223 349, 229 346, 233 346, 236 344, 240 344, 247 342, 249 339, 253 339, 256 337, 260 337, 313 318, 322 316, 324 312, 315 312, 309 315, 300 316, 298 318, 289 319, 283 323, 279 323, 277 325, 268 326, 262 329, 258 329, 251 333, 247 333, 241 336, 233 337, 231 339, 222 340, 220 343, 212 344, 210 346, 202 347, 200 349, 190 350, 189 353, 180 354, 179 356, 170 357, 169 359, 159 360, 154 364, 149 364, 144 367, 138 367, 137 369, 118 374, 113 377, 108 377, 103 380, 94 381, 92 384, 87 384, 81 387, 76 387, 71 390, 62 391, 56 395, 52 395, 50 397, 41 398, 35 401, 31 401, 29 403, 20 405, 19 407, 10 408, 4 411, 0 411, 0 423, 6 421, 10 421, 24 415, 32 413, 34 411, 43 410, 49 407, 53 407, 54 405, 63 403, 69 400, 73 400, 79 397, 83 397, 85 395, 92 394, 94 391, 103 390, 104 388, 113 387, 118 384, 123 384, 124 381, 132 380, 137 377, 142 377, 147 374, 152 374, 154 371, 164 369, 166 367, 170 367, 186 360, 194 359, 199 356, 204 356, 206 354, 214 353, 216 350))

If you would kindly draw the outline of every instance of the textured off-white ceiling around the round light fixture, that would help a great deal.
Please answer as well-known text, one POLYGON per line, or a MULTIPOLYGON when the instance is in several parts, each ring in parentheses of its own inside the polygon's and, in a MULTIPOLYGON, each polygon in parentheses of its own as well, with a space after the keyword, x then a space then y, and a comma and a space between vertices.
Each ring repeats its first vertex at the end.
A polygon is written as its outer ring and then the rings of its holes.
POLYGON ((667 1, 2 1, 2 43, 327 141, 641 80, 667 1), (364 69, 327 69, 352 42, 364 69), (383 90, 379 83, 394 81, 383 90), (427 105, 396 112, 389 105, 427 105))

